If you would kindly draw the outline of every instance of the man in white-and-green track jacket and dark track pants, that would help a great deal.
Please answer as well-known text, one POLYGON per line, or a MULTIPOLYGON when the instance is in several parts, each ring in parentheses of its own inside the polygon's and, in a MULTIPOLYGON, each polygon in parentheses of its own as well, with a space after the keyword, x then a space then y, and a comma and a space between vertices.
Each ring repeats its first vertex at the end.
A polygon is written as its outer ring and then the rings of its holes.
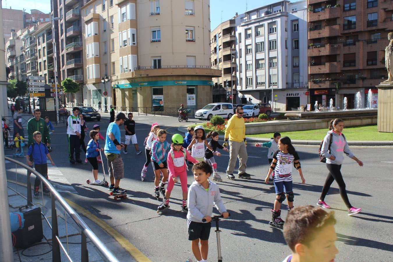
POLYGON ((68 159, 71 164, 75 164, 75 159, 78 163, 81 160, 81 147, 79 139, 81 138, 81 119, 79 118, 79 108, 72 108, 72 115, 67 119, 67 137, 68 137, 68 159), (74 159, 75 152, 75 159, 74 159))

